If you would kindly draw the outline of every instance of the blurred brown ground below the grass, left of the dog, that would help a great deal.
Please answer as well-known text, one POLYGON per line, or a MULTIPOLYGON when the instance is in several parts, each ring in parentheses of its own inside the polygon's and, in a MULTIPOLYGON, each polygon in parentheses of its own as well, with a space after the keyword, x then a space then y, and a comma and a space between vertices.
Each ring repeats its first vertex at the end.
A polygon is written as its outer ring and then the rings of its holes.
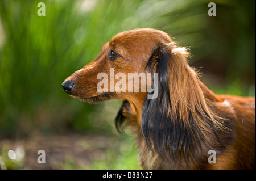
MULTIPOLYGON (((92 161, 104 159, 109 145, 118 144, 114 137, 92 135, 34 136, 27 140, 0 140, 1 169, 91 169, 92 161), (25 153, 13 161, 9 150, 25 153), (38 163, 38 150, 46 153, 46 163, 38 163), (14 162, 6 164, 6 160, 14 162), (7 166, 6 166, 7 165, 7 166), (9 166, 8 166, 9 165, 9 166)), ((17 153, 18 154, 18 153, 17 153)))

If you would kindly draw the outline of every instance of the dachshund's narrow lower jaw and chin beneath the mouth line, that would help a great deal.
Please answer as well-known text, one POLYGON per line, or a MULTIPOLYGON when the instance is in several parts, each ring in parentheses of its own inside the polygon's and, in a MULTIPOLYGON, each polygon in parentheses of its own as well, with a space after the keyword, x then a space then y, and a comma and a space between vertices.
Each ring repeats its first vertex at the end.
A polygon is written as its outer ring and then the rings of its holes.
POLYGON ((96 95, 96 96, 90 96, 90 97, 80 97, 80 96, 74 96, 71 95, 73 98, 79 99, 83 102, 87 102, 90 104, 93 103, 100 103, 100 102, 104 102, 105 100, 110 100, 110 99, 114 99, 115 97, 115 93, 114 92, 104 92, 102 94, 96 95))

